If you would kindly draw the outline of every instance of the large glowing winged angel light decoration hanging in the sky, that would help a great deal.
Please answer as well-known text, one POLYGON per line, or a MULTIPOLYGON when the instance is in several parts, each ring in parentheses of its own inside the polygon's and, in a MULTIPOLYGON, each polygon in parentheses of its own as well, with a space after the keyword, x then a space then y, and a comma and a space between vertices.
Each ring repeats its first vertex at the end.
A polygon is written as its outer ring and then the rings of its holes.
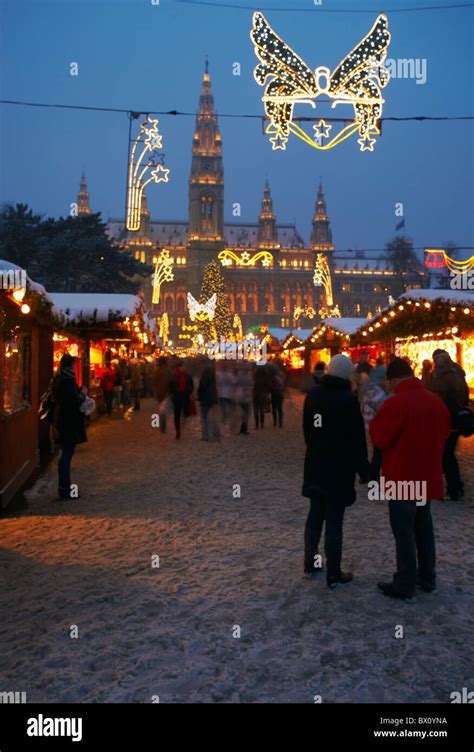
MULTIPOLYGON (((358 132, 361 151, 373 151, 375 138, 380 135, 382 117, 380 88, 384 88, 390 73, 384 67, 390 44, 388 19, 382 13, 377 17, 366 37, 350 52, 331 73, 320 66, 315 72, 296 55, 273 31, 262 13, 254 13, 250 38, 260 63, 254 77, 265 86, 262 101, 270 121, 266 132, 271 135, 273 149, 286 149, 290 133, 321 151, 337 146, 358 132), (267 79, 271 80, 267 82, 267 79), (314 137, 293 122, 295 104, 309 104, 316 109, 315 100, 325 95, 332 107, 350 104, 354 108, 354 121, 335 135, 330 135, 332 125, 321 118, 314 126, 314 137), (330 138, 325 145, 323 138, 330 138)), ((326 101, 326 100, 325 100, 326 101)))

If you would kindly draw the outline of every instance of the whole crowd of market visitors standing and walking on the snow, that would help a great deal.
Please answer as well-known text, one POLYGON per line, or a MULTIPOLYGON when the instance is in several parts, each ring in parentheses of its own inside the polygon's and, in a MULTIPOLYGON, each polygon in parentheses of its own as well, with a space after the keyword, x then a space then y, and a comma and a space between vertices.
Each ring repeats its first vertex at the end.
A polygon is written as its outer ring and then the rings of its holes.
MULTIPOLYGON (((71 459, 76 445, 87 441, 87 396, 76 383, 74 365, 75 359, 64 355, 52 386, 62 499, 77 498, 70 493, 71 459)), ((255 430, 264 428, 267 415, 275 427, 283 427, 287 376, 275 361, 256 365, 195 358, 186 363, 174 356, 111 360, 100 383, 109 414, 125 406, 139 410, 141 398, 154 397, 160 431, 167 432, 172 417, 176 439, 182 436, 186 418, 197 415, 198 408, 203 441, 219 441, 222 431, 230 433, 233 427, 247 436, 252 413, 255 430)), ((408 601, 417 585, 433 592, 430 503, 443 498, 460 501, 463 496, 455 449, 466 414, 472 424, 464 371, 444 350, 436 350, 432 362, 425 361, 421 379, 407 360, 395 355, 386 366, 382 359, 367 356, 354 365, 340 354, 328 365, 317 363, 311 385, 304 390, 302 495, 310 499, 304 531, 305 574, 321 571, 319 544, 325 526, 327 584, 332 589, 352 581, 353 575, 341 569, 342 530, 345 509, 356 499, 356 476, 362 484, 383 479, 413 488, 423 483, 423 503, 418 497, 387 499, 397 570, 393 580, 379 583, 379 588, 384 595, 408 601)))

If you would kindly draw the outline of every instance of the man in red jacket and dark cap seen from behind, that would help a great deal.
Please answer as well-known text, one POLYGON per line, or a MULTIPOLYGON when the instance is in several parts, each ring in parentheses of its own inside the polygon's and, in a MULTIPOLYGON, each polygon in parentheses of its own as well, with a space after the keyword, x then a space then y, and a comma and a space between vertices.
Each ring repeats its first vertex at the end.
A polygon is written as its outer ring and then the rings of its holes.
POLYGON ((383 479, 395 481, 397 489, 406 490, 410 481, 411 488, 423 484, 426 495, 419 503, 417 497, 389 501, 397 571, 393 582, 380 582, 379 589, 392 598, 411 600, 416 584, 425 592, 436 588, 430 500, 444 496, 442 460, 451 418, 439 397, 415 378, 406 360, 395 358, 387 368, 387 379, 394 395, 369 424, 372 443, 382 451, 383 479))

